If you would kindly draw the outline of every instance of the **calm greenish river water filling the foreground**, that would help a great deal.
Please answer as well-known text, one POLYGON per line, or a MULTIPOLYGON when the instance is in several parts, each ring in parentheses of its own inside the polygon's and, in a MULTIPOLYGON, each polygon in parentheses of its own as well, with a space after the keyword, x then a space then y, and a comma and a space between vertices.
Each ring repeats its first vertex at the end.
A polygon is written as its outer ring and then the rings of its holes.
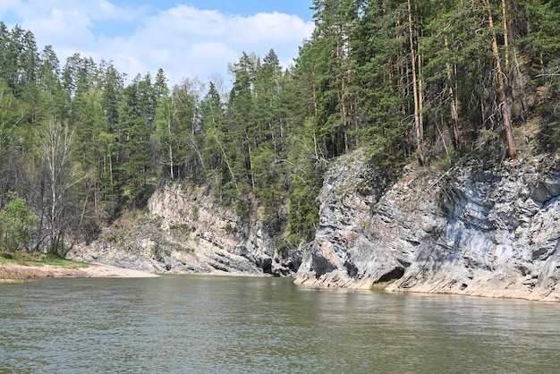
POLYGON ((560 304, 162 276, 0 285, 0 373, 552 373, 560 304))

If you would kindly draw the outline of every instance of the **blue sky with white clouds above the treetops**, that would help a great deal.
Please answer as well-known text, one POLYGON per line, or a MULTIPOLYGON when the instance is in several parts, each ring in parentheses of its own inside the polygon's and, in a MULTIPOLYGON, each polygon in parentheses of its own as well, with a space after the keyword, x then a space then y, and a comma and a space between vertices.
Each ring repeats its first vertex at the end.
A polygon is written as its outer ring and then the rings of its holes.
POLYGON ((287 67, 313 30, 311 0, 0 0, 0 21, 30 30, 61 66, 75 53, 130 80, 162 68, 171 85, 224 78, 242 52, 272 48, 287 67))

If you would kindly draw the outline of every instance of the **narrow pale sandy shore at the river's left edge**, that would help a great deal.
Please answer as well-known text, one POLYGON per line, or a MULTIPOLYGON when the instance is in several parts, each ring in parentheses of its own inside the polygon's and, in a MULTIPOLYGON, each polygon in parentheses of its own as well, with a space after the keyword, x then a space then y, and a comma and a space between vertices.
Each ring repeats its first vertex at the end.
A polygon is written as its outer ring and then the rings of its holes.
POLYGON ((130 268, 116 268, 109 265, 89 264, 88 268, 55 267, 44 265, 42 267, 28 267, 17 264, 0 264, 0 282, 7 280, 41 279, 41 278, 143 278, 153 277, 156 274, 147 273, 130 268))

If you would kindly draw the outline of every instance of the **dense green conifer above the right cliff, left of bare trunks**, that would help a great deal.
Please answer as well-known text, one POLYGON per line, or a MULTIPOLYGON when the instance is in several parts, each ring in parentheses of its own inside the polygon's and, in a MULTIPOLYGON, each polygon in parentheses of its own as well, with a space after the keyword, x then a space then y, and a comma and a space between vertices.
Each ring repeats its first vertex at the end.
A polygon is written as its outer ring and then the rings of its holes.
POLYGON ((370 144, 369 156, 380 166, 399 166, 412 154, 405 84, 410 42, 404 38, 403 13, 403 4, 370 2, 363 9, 354 43, 361 81, 361 133, 370 144))

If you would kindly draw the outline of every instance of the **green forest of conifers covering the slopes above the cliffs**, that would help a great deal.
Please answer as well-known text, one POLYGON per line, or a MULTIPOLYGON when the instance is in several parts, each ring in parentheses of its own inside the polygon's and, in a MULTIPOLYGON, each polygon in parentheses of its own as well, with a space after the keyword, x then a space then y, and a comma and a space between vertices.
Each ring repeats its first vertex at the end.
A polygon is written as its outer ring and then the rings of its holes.
POLYGON ((388 175, 560 145, 559 0, 314 0, 293 65, 271 49, 221 79, 133 79, 61 63, 0 22, 0 249, 63 253, 165 183, 207 189, 297 245, 328 163, 354 149, 388 175), (129 82, 130 81, 130 82, 129 82), (127 83, 125 83, 127 82, 127 83))

